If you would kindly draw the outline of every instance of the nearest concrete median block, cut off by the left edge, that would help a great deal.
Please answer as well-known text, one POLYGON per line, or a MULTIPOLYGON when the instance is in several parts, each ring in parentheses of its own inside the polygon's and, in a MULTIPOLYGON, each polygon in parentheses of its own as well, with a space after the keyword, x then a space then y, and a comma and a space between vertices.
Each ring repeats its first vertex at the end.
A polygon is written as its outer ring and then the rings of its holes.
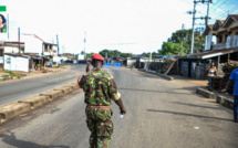
POLYGON ((12 103, 0 108, 1 123, 12 119, 31 110, 31 105, 25 103, 12 103))

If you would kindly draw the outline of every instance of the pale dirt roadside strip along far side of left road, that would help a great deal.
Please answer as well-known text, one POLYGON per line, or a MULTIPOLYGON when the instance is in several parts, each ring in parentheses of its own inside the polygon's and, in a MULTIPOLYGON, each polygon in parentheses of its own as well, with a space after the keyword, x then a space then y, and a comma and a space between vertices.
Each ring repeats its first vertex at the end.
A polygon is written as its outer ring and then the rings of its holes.
MULTIPOLYGON (((51 75, 51 74, 55 74, 55 73, 61 73, 61 72, 65 72, 68 70, 70 70, 70 65, 65 65, 59 68, 53 68, 53 67, 46 67, 45 70, 48 70, 45 73, 44 71, 35 71, 35 72, 30 72, 30 73, 24 73, 24 72, 14 72, 17 74, 21 74, 23 75, 22 77, 11 77, 11 78, 7 78, 7 80, 1 80, 0 83, 4 83, 4 82, 12 82, 12 81, 18 81, 18 80, 25 80, 25 78, 33 78, 33 77, 40 77, 40 76, 46 76, 46 75, 51 75)), ((6 73, 1 74, 0 73, 0 77, 6 75, 6 73)))

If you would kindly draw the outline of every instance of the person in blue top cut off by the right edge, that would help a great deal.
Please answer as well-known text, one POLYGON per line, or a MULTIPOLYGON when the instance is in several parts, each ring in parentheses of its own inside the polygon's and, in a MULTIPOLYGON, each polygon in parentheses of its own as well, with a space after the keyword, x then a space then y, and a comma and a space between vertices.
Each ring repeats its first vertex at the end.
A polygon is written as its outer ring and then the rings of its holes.
POLYGON ((234 85, 234 121, 238 123, 238 67, 231 72, 226 87, 220 91, 221 93, 227 92, 227 89, 230 86, 231 81, 235 81, 235 85, 234 85))

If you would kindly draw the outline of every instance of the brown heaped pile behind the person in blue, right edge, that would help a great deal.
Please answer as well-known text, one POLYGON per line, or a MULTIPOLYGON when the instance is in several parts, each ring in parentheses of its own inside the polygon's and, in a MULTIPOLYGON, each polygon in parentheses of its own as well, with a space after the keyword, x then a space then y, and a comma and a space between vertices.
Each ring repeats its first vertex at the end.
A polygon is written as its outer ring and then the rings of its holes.
MULTIPOLYGON (((226 84, 229 80, 231 72, 237 67, 238 67, 238 61, 229 60, 227 63, 223 64, 223 72, 225 75, 219 82, 219 89, 223 89, 226 87, 226 84)), ((228 88, 228 93, 229 94, 234 93, 234 82, 230 84, 230 86, 228 88)))

